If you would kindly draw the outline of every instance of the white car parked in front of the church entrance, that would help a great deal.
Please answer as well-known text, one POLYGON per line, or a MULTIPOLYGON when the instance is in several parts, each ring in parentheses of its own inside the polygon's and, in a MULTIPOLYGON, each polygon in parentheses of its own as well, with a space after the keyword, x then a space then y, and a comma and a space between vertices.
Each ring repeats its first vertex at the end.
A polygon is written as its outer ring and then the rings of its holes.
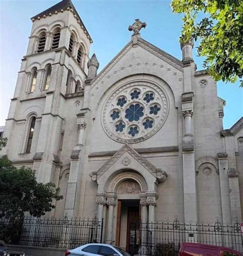
POLYGON ((120 249, 119 247, 110 244, 86 244, 79 246, 72 250, 66 250, 65 255, 112 255, 112 256, 131 256, 128 252, 120 249))

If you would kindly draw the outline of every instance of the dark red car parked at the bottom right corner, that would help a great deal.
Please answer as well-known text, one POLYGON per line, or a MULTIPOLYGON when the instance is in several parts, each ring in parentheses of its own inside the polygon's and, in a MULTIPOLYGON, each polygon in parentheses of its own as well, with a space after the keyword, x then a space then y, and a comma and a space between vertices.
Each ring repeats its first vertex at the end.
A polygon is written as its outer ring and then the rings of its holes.
POLYGON ((243 256, 242 253, 221 246, 182 243, 179 250, 179 256, 243 256))

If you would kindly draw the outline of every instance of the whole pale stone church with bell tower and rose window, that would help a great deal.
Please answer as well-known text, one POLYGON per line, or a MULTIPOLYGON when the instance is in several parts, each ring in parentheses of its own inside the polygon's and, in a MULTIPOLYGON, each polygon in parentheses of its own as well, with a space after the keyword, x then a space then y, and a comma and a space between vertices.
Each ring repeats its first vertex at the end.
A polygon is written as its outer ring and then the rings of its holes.
POLYGON ((97 72, 71 0, 31 20, 1 154, 60 187, 51 216, 104 218, 105 241, 124 248, 134 219, 242 219, 243 118, 223 128, 225 101, 196 70, 193 42, 178 45, 178 60, 142 38, 136 19, 131 40, 97 72))

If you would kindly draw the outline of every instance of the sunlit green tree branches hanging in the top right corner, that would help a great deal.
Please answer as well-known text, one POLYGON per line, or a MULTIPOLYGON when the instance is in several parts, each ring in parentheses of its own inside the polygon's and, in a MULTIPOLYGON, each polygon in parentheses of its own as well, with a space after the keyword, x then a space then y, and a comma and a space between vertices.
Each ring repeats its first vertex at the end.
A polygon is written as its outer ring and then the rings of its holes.
POLYGON ((185 14, 180 42, 200 39, 197 51, 212 77, 224 82, 242 78, 243 1, 172 0, 171 6, 173 12, 185 14))

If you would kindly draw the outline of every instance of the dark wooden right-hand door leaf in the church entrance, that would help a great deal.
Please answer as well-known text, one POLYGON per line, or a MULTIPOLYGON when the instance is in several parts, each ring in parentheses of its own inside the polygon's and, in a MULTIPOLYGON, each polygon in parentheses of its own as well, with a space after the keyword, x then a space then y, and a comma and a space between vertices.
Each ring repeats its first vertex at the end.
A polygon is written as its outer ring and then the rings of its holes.
POLYGON ((139 245, 139 207, 128 207, 128 222, 127 222, 127 246, 126 250, 139 245))

